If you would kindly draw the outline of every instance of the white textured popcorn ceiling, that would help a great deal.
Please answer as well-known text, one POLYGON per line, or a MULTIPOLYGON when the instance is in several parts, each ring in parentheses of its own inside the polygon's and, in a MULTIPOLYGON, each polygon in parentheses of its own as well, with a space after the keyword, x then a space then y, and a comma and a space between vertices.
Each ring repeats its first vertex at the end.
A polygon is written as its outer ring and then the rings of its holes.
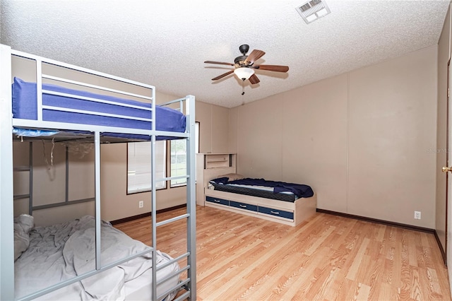
MULTIPOLYGON (((449 0, 326 0, 331 14, 307 25, 300 1, 5 1, 1 40, 23 52, 155 85, 158 91, 235 107, 361 66, 436 45, 449 0), (242 83, 229 66, 248 44, 266 54, 242 83)), ((232 67, 231 67, 232 68, 232 67)))

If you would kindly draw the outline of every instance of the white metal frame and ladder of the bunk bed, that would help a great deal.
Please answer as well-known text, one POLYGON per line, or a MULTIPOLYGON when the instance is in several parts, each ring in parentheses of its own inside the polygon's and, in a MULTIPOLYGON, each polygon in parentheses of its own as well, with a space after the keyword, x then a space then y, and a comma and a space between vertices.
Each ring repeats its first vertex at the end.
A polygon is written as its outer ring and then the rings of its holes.
MULTIPOLYGON (((42 120, 42 78, 46 78, 47 75, 42 74, 42 64, 52 64, 55 66, 61 66, 66 69, 71 69, 75 71, 81 71, 92 76, 100 76, 102 78, 109 78, 120 83, 126 83, 131 85, 138 85, 143 88, 152 90, 151 96, 141 96, 141 98, 150 99, 153 103, 153 120, 155 120, 155 87, 152 85, 145 85, 143 83, 138 83, 135 81, 129 81, 125 78, 119 78, 117 76, 110 76, 105 73, 100 73, 97 71, 84 69, 78 66, 73 66, 70 64, 64 64, 59 61, 54 61, 52 59, 44 59, 42 57, 37 57, 32 54, 26 54, 24 52, 18 52, 12 50, 11 47, 6 45, 0 45, 0 300, 15 300, 14 296, 14 250, 13 250, 13 141, 12 141, 12 129, 14 127, 22 127, 26 129, 59 129, 59 130, 69 130, 69 131, 91 131, 94 132, 95 141, 95 225, 96 225, 96 254, 95 262, 96 269, 90 271, 81 276, 72 278, 69 281, 64 281, 58 283, 57 285, 52 285, 49 288, 40 290, 38 292, 32 293, 18 300, 32 300, 37 297, 46 295, 54 290, 63 288, 77 281, 81 281, 84 278, 93 276, 96 273, 105 271, 108 268, 129 261, 136 256, 141 256, 145 253, 152 252, 153 254, 153 266, 156 264, 156 252, 157 252, 157 227, 160 225, 166 225, 168 223, 175 222, 177 220, 185 219, 187 221, 187 249, 186 253, 178 256, 173 261, 170 261, 167 265, 172 264, 176 261, 186 258, 186 266, 182 267, 176 273, 167 277, 180 275, 186 272, 186 278, 178 283, 177 286, 169 291, 176 291, 180 288, 184 288, 186 292, 180 295, 177 300, 196 300, 196 195, 195 195, 195 100, 193 95, 187 95, 185 98, 179 100, 174 100, 168 102, 165 105, 169 105, 175 102, 184 102, 185 114, 186 114, 186 133, 175 133, 167 131, 157 131, 155 130, 155 122, 152 122, 153 129, 143 130, 143 129, 126 129, 112 126, 96 126, 89 124, 71 124, 63 122, 47 122, 42 120), (12 117, 12 103, 11 103, 11 56, 24 57, 26 59, 32 59, 36 62, 36 82, 37 82, 37 107, 38 107, 38 119, 28 120, 28 119, 14 119, 12 117), (187 200, 187 213, 182 216, 177 216, 169 220, 163 220, 157 223, 156 221, 156 201, 157 195, 155 189, 153 189, 151 194, 152 203, 152 248, 150 251, 143 252, 142 254, 135 254, 127 258, 121 259, 114 264, 109 264, 107 266, 102 265, 100 261, 100 133, 102 132, 113 132, 121 134, 142 134, 149 135, 152 141, 152 162, 155 162, 155 141, 156 136, 172 136, 177 138, 184 138, 187 141, 187 175, 179 177, 167 177, 165 179, 155 178, 155 164, 152 164, 152 187, 155 187, 155 182, 170 179, 179 179, 181 177, 186 178, 186 200, 187 200), (8 247, 6 247, 8 246, 8 247)), ((55 78, 54 78, 55 79, 55 78)), ((57 81, 68 82, 69 80, 65 78, 57 78, 57 81)), ((88 84, 77 83, 78 85, 84 85, 89 87, 88 84)), ((112 91, 112 89, 104 87, 96 87, 100 90, 112 91)), ((124 92, 127 95, 128 93, 124 92)), ((182 104, 180 105, 182 109, 182 104)), ((157 269, 165 268, 165 266, 159 268, 152 268, 152 295, 157 296, 157 281, 159 283, 165 282, 165 279, 157 279, 157 269)), ((165 292, 162 295, 166 295, 165 292)), ((160 296, 153 298, 155 300, 160 299, 160 296)))

